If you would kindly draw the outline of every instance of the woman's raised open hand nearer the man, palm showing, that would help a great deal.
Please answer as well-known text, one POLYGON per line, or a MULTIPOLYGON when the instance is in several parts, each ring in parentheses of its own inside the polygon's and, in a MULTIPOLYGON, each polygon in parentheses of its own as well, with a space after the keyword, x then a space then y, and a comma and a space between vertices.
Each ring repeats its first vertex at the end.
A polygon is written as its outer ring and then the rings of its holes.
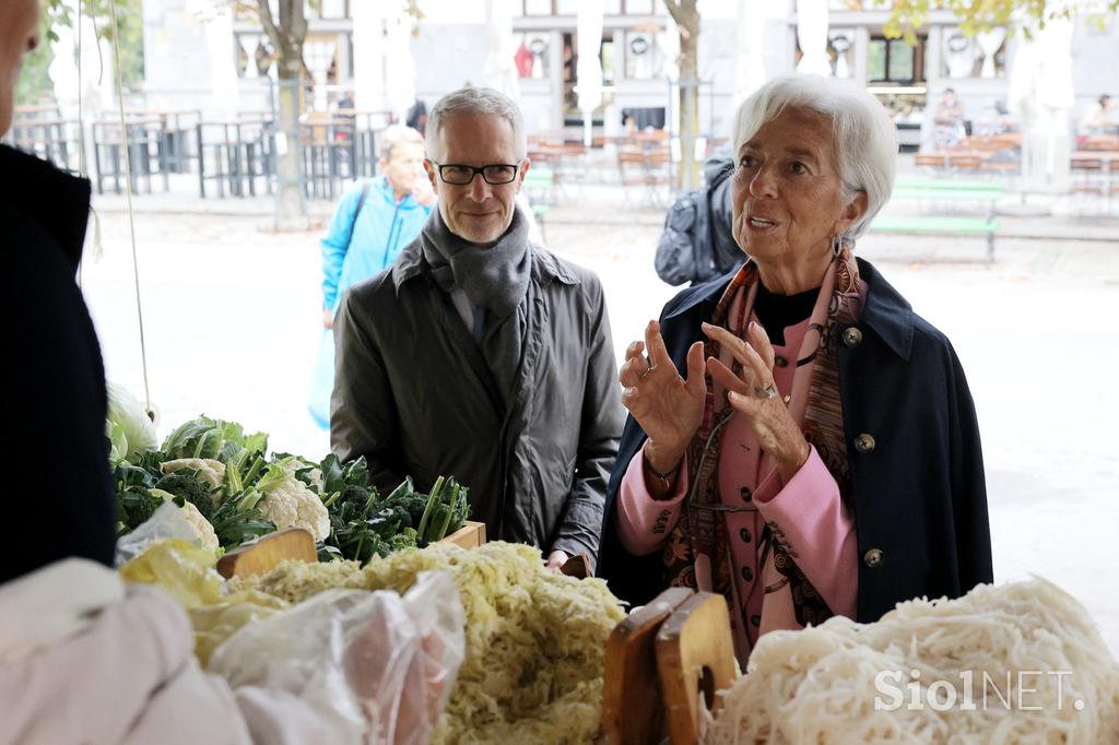
POLYGON ((697 341, 688 349, 687 379, 680 377, 668 356, 657 321, 646 327, 645 342, 634 341, 626 350, 618 376, 623 387, 622 404, 649 436, 645 456, 656 471, 674 469, 699 428, 707 395, 703 348, 703 342, 697 341))

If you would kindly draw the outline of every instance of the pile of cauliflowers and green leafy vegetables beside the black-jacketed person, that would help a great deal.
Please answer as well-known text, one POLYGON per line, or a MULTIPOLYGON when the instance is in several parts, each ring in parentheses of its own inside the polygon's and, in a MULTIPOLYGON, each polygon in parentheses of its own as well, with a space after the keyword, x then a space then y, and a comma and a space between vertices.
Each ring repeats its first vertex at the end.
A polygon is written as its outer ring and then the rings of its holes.
POLYGON ((462 527, 468 489, 440 477, 430 493, 406 479, 382 499, 365 459, 321 462, 267 453, 267 435, 200 416, 156 450, 151 422, 128 392, 112 388, 105 424, 116 483, 117 535, 131 532, 167 501, 182 508, 196 540, 211 551, 236 548, 285 528, 308 530, 321 560, 367 562, 424 546, 462 527))

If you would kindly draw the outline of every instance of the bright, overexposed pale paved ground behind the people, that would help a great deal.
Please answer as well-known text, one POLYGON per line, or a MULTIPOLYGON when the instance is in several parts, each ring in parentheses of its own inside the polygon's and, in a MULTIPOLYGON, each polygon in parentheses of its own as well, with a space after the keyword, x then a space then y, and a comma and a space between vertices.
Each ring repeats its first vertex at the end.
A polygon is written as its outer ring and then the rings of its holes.
MULTIPOLYGON (((656 210, 622 209, 587 190, 546 225, 557 253, 599 273, 619 352, 675 292, 652 271, 656 210)), ((272 435, 278 450, 321 456, 305 412, 319 328, 318 232, 272 234, 266 201, 233 216, 175 214, 151 197, 137 218, 151 395, 161 434, 205 412, 272 435)), ((186 204, 186 202, 185 202, 186 204)), ((128 221, 98 200, 103 255, 83 283, 111 379, 142 392, 128 221)), ((189 205, 188 205, 189 206, 189 205)), ((316 206, 318 214, 329 205, 316 206)), ((1119 221, 1068 241, 982 242, 874 236, 857 251, 952 339, 980 417, 999 579, 1047 576, 1083 601, 1119 654, 1119 583, 1108 579, 1119 527, 1119 221)), ((1075 220, 1073 220, 1075 223, 1075 220)), ((1052 227, 1052 226, 1051 226, 1052 227)), ((1074 225, 1072 227, 1075 227, 1074 225)), ((1057 236, 1057 237, 1054 237, 1057 236)))

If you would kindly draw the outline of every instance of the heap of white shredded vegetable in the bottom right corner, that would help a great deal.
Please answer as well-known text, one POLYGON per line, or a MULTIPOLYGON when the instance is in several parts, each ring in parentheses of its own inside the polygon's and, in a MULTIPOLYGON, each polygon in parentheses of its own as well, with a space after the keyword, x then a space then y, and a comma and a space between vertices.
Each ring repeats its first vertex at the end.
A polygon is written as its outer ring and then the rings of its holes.
POLYGON ((706 745, 1119 742, 1119 666, 1044 579, 769 633, 724 695, 706 745))

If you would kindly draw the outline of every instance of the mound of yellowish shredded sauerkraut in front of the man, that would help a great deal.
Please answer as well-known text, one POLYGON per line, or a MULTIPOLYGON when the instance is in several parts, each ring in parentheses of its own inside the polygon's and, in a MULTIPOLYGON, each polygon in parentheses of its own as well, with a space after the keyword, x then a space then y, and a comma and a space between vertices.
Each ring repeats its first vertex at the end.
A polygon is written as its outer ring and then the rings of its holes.
POLYGON ((592 742, 605 641, 624 612, 602 581, 551 572, 530 546, 430 546, 375 557, 364 568, 284 562, 231 588, 299 603, 332 587, 404 593, 432 569, 454 579, 467 616, 466 659, 433 743, 592 742))

